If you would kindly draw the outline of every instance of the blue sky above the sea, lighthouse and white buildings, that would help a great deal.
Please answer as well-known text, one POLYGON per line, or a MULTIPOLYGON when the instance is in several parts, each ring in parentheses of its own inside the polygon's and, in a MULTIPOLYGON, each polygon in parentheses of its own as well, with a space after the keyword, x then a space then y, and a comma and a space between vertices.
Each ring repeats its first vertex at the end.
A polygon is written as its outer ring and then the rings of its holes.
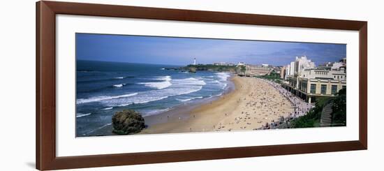
POLYGON ((145 64, 199 64, 224 61, 282 66, 307 55, 318 64, 346 57, 346 45, 208 38, 171 38, 76 34, 76 57, 81 60, 145 64))

